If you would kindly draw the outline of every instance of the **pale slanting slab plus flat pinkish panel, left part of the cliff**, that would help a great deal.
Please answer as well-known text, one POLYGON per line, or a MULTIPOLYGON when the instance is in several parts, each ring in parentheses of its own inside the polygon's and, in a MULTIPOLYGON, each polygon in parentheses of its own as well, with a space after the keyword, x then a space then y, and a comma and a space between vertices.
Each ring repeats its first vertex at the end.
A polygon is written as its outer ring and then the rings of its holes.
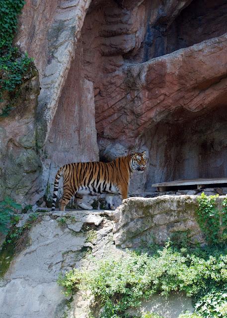
POLYGON ((35 184, 41 188, 39 197, 51 196, 60 166, 99 158, 93 84, 84 77, 78 41, 89 4, 26 1, 20 17, 15 43, 34 57, 40 74, 36 145, 43 169, 35 184))

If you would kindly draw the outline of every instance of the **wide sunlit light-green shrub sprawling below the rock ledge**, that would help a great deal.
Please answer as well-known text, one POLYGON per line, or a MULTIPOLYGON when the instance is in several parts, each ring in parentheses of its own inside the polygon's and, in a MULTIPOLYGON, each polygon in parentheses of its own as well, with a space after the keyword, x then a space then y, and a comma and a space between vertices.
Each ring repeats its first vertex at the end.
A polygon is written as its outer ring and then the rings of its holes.
MULTIPOLYGON (((96 269, 73 269, 58 282, 66 295, 77 289, 91 291, 104 308, 103 318, 120 318, 153 294, 181 291, 199 302, 214 289, 222 292, 227 286, 227 249, 179 250, 167 243, 152 256, 130 252, 118 260, 100 260, 96 269)), ((200 314, 200 306, 196 308, 200 314)))

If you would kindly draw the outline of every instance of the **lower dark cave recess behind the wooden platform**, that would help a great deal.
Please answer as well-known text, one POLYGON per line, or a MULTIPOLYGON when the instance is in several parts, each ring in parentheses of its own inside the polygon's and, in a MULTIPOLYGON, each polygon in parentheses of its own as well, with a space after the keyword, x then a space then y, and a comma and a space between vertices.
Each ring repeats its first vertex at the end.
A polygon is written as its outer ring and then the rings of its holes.
POLYGON ((226 136, 225 106, 199 116, 179 109, 156 123, 140 141, 149 150, 145 191, 154 190, 153 183, 227 177, 226 136))

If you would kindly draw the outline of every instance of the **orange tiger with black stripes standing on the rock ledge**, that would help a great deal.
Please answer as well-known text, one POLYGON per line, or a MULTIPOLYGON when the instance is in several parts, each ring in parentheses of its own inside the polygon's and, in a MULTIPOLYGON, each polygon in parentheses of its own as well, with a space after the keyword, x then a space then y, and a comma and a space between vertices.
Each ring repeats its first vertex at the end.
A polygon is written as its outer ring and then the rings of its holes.
MULTIPOLYGON (((147 166, 146 151, 117 158, 110 162, 90 161, 65 164, 59 168, 54 182, 52 211, 58 194, 59 179, 63 176, 63 196, 59 201, 60 211, 76 194, 97 195, 107 193, 128 197, 128 187, 132 172, 143 172, 147 166)), ((109 203, 111 205, 111 202, 109 203)), ((111 206, 111 209, 114 207, 111 206)))

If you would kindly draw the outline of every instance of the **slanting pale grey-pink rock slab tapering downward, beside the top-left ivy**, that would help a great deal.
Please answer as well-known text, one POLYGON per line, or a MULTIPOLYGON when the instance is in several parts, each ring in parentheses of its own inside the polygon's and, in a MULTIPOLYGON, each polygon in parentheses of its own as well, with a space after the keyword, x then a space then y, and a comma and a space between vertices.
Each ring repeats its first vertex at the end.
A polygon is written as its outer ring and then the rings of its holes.
POLYGON ((40 71, 42 90, 37 118, 40 147, 48 137, 90 0, 69 3, 55 0, 46 5, 43 1, 27 1, 15 40, 35 58, 40 71))

